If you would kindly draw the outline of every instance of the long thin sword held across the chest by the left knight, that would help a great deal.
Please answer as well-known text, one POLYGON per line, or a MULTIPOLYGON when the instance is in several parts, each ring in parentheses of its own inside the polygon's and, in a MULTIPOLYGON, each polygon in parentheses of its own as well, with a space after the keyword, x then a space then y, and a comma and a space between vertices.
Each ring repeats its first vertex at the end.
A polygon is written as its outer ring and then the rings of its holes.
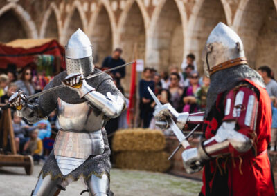
MULTIPOLYGON (((125 64, 123 64, 123 65, 121 65, 121 66, 117 66, 117 67, 115 67, 115 68, 110 68, 110 69, 105 70, 105 71, 102 71, 102 72, 98 72, 98 73, 93 74, 93 75, 89 75, 89 76, 87 76, 87 77, 84 77, 84 79, 91 79, 91 78, 96 77, 96 76, 98 76, 98 75, 102 75, 102 74, 105 73, 105 72, 110 72, 110 71, 116 70, 116 69, 118 69, 118 68, 123 68, 123 67, 125 67, 125 66, 129 66, 129 65, 131 65, 132 63, 134 63, 134 61, 132 61, 132 62, 130 62, 130 63, 125 63, 125 64)), ((51 92, 51 91, 53 91, 53 90, 57 90, 57 89, 60 89, 60 88, 63 88, 63 87, 65 87, 65 84, 60 84, 59 86, 55 86, 55 87, 53 87, 53 88, 49 88, 49 89, 47 89, 47 90, 43 90, 42 92, 38 92, 38 93, 36 93, 36 94, 34 94, 34 95, 30 95, 30 96, 28 96, 28 97, 26 97, 26 98, 27 98, 27 100, 34 99, 34 98, 39 97, 40 95, 44 95, 44 94, 46 94, 46 93, 48 93, 48 92, 51 92)), ((2 106, 1 109, 2 109, 2 110, 6 110, 6 109, 8 109, 8 108, 10 108, 10 107, 11 107, 10 104, 6 104, 5 106, 2 106)))

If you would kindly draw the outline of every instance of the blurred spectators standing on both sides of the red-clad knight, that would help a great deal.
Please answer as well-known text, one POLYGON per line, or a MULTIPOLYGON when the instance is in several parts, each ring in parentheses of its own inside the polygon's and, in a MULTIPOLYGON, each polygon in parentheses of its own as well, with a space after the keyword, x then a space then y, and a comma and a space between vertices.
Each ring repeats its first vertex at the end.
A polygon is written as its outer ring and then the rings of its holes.
MULTIPOLYGON (((271 151, 276 151, 277 82, 274 79, 274 72, 269 66, 261 66, 257 71, 264 79, 271 98, 272 125, 269 148, 271 151)), ((148 92, 148 86, 161 101, 161 104, 170 103, 177 112, 193 113, 205 111, 209 85, 209 77, 199 75, 197 72, 195 55, 193 54, 188 54, 181 66, 170 66, 168 71, 157 72, 153 68, 144 68, 143 78, 139 81, 141 126, 143 128, 157 128, 153 117, 156 104, 148 92)), ((170 133, 170 131, 165 131, 165 133, 170 133)))

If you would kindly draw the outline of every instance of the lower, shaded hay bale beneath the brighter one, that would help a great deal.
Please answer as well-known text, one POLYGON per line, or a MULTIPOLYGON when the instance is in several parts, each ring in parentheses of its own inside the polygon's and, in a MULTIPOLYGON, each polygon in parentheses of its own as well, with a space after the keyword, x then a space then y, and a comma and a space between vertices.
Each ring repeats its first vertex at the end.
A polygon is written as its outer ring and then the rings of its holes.
POLYGON ((166 152, 120 152, 116 153, 117 168, 165 172, 170 168, 166 152))

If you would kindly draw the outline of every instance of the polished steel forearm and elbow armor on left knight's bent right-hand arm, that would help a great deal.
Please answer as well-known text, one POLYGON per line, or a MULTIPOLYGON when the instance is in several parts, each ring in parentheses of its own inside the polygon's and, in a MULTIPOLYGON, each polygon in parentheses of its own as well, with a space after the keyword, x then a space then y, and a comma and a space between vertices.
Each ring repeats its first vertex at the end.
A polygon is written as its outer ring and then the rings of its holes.
POLYGON ((97 92, 95 88, 89 86, 87 82, 83 82, 79 90, 80 97, 87 99, 93 106, 101 110, 107 117, 116 118, 123 110, 125 101, 119 95, 111 95, 107 92, 107 96, 97 92))

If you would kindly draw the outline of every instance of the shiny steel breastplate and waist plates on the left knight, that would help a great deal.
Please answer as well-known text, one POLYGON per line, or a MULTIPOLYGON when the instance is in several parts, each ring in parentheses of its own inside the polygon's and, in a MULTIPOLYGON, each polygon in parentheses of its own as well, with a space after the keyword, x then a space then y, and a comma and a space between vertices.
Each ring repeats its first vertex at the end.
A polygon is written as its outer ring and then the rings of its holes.
POLYGON ((61 130, 57 133, 53 150, 60 171, 63 175, 68 175, 90 155, 104 153, 105 144, 101 132, 104 115, 88 101, 68 104, 59 98, 57 103, 61 130))

